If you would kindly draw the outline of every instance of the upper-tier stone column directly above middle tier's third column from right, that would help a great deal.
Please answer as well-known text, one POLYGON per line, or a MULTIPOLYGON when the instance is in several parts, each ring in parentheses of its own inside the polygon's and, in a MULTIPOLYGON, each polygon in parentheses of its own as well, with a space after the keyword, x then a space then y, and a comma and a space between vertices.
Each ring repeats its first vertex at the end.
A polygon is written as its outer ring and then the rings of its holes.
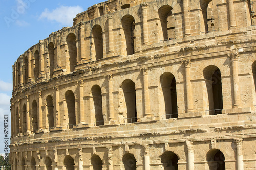
POLYGON ((149 44, 148 40, 148 25, 147 25, 147 3, 141 4, 142 9, 142 26, 143 26, 143 44, 147 45, 149 44))

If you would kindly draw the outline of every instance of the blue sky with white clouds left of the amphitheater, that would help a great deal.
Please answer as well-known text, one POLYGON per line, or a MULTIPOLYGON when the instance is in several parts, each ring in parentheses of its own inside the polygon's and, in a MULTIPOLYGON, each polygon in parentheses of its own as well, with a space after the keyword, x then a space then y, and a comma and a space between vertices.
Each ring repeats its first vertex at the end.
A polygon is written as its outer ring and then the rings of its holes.
MULTIPOLYGON (((11 135, 12 65, 52 32, 72 26, 76 14, 100 0, 0 0, 0 153, 5 153, 4 116, 11 135)), ((10 141, 8 141, 10 144, 10 141)))

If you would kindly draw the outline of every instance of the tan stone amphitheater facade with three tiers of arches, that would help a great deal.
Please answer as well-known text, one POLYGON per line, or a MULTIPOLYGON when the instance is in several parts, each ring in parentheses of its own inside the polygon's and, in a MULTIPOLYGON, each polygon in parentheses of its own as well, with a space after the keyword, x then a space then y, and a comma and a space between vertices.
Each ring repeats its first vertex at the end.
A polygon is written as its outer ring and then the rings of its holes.
POLYGON ((254 5, 77 14, 13 65, 12 169, 256 169, 254 5))

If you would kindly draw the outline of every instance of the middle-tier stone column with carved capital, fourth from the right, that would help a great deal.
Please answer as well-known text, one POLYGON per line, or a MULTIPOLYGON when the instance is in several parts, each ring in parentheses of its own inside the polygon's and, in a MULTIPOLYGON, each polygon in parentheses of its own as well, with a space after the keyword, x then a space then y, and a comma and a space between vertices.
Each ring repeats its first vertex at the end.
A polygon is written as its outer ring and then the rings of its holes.
POLYGON ((109 120, 110 121, 114 121, 114 100, 113 100, 113 79, 112 79, 112 75, 108 75, 108 96, 109 96, 109 100, 108 100, 108 104, 109 104, 109 120))

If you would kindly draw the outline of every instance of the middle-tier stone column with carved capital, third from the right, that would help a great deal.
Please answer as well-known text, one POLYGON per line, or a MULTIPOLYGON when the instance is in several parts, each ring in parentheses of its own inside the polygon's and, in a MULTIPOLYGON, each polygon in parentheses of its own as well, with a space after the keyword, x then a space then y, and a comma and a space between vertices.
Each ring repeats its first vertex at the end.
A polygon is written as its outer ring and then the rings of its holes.
POLYGON ((141 69, 143 74, 143 91, 144 91, 144 115, 151 116, 150 113, 150 92, 148 90, 148 68, 141 69))

